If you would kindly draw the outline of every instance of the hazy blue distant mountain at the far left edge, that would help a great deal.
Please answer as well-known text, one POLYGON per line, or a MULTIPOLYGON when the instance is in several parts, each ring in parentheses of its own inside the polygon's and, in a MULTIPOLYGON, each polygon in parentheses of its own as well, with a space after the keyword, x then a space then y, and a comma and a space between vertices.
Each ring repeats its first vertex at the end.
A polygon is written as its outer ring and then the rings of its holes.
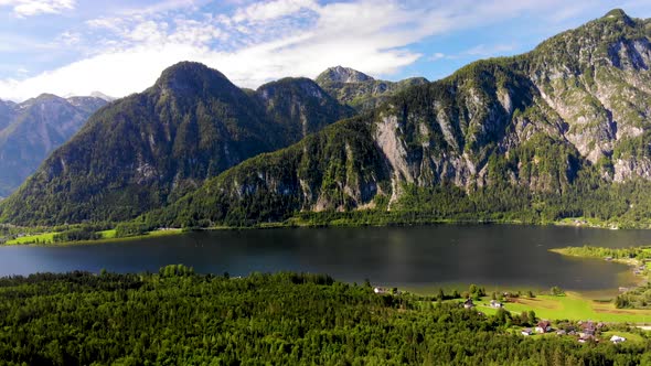
POLYGON ((13 192, 106 100, 43 94, 21 104, 0 101, 0 197, 13 192))

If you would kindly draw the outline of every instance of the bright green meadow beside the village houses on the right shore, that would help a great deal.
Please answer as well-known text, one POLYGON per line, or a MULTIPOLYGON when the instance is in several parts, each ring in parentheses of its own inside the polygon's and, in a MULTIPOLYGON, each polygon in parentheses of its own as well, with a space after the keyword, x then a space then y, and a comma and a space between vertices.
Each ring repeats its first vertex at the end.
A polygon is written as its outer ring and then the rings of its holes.
MULTIPOLYGON (((514 299, 515 302, 504 303, 504 309, 513 313, 533 310, 541 319, 548 320, 591 320, 609 323, 651 323, 651 311, 616 309, 612 303, 595 302, 575 292, 566 295, 538 295, 536 298, 514 299)), ((488 304, 489 298, 478 303, 478 310, 494 314, 495 309, 488 304)))

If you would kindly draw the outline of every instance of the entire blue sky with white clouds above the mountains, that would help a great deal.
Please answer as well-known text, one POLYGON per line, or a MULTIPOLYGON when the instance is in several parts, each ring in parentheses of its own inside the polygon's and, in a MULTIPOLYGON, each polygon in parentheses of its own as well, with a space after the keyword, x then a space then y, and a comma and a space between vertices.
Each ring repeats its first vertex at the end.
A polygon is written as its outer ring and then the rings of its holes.
POLYGON ((613 8, 651 17, 648 0, 0 0, 0 98, 121 97, 184 60, 253 88, 335 65, 438 79, 613 8))

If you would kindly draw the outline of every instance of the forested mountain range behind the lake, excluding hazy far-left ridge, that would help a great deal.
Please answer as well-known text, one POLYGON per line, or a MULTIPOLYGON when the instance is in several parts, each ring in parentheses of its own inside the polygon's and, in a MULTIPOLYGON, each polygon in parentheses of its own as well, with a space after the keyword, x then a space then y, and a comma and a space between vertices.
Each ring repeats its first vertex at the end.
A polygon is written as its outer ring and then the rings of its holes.
POLYGON ((433 83, 333 67, 316 83, 253 92, 181 63, 95 114, 0 204, 0 218, 124 220, 151 211, 143 219, 156 226, 316 212, 644 220, 650 39, 650 20, 613 10, 526 54, 433 83))

